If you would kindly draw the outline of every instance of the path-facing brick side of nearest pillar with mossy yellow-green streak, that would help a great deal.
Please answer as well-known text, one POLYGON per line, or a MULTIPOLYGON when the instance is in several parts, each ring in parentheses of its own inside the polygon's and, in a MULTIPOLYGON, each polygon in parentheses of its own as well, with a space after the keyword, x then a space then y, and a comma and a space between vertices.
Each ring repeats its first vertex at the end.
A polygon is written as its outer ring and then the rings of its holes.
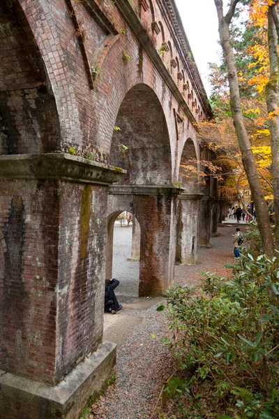
POLYGON ((57 379, 103 337, 107 191, 63 183, 60 198, 57 379))

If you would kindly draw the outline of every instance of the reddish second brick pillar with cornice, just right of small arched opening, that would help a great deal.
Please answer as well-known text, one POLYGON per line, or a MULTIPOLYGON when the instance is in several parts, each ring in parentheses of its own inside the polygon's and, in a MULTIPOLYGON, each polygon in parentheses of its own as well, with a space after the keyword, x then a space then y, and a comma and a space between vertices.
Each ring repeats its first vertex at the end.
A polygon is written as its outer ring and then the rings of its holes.
POLYGON ((172 284, 175 262, 174 209, 179 189, 137 187, 135 216, 140 221, 139 296, 163 295, 172 284), (149 191, 149 195, 144 195, 149 191))

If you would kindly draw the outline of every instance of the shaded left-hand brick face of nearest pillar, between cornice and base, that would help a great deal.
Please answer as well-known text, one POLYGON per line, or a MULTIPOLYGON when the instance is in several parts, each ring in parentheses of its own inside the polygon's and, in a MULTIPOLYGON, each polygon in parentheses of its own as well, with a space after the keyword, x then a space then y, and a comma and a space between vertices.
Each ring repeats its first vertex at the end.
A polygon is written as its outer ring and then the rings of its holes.
MULTIPOLYGON (((0 368, 53 383, 59 198, 56 182, 2 181, 0 368)), ((0 252, 1 253, 1 252, 0 252)))

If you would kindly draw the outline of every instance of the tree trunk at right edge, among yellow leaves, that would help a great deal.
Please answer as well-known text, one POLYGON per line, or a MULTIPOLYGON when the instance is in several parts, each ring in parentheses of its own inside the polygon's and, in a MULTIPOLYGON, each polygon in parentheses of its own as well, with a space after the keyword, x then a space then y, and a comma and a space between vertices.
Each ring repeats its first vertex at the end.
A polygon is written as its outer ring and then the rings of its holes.
POLYGON ((276 22, 273 16, 277 16, 277 4, 269 6, 269 63, 271 74, 269 82, 266 84, 266 105, 269 111, 269 131, 271 138, 271 156, 272 156, 272 184, 273 184, 273 205, 275 212, 276 225, 276 249, 279 250, 279 64, 278 64, 278 33, 276 31, 276 22), (275 112, 276 111, 276 112, 275 112), (274 112, 274 113, 271 113, 274 112))

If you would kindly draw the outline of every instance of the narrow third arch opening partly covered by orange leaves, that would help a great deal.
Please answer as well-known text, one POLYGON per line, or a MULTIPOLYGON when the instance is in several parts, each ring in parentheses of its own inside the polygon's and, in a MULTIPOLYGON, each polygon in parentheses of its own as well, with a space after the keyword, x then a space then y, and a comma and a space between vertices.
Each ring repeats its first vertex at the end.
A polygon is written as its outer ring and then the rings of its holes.
POLYGON ((188 138, 183 147, 179 165, 179 182, 186 193, 197 193, 199 181, 199 157, 195 142, 188 138))

